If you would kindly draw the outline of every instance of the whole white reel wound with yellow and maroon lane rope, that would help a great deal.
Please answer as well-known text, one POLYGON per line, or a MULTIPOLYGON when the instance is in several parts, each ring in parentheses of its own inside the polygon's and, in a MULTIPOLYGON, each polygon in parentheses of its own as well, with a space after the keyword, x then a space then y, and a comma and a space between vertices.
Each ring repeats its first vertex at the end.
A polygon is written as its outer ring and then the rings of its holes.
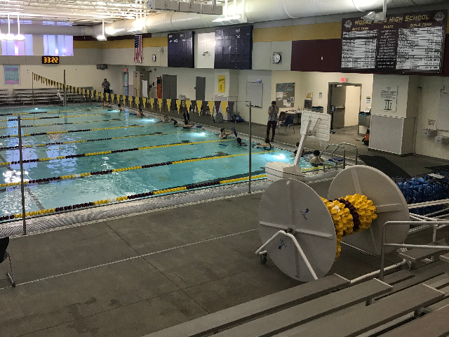
MULTIPOLYGON (((277 180, 262 195, 258 213, 262 246, 255 253, 262 263, 269 256, 282 272, 301 282, 328 274, 340 256, 342 240, 379 256, 384 223, 410 219, 396 183, 361 165, 340 171, 327 199, 299 180, 277 180)), ((386 242, 405 242, 409 227, 389 227, 386 242)))

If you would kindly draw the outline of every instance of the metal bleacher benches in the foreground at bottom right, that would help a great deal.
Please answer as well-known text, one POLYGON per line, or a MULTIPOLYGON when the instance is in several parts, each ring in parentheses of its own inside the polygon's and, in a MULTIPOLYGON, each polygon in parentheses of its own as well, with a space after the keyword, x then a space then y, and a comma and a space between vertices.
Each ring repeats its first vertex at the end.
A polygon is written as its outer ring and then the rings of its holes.
POLYGON ((413 269, 383 281, 330 275, 146 337, 449 336, 449 253, 430 254, 401 254, 413 269))

